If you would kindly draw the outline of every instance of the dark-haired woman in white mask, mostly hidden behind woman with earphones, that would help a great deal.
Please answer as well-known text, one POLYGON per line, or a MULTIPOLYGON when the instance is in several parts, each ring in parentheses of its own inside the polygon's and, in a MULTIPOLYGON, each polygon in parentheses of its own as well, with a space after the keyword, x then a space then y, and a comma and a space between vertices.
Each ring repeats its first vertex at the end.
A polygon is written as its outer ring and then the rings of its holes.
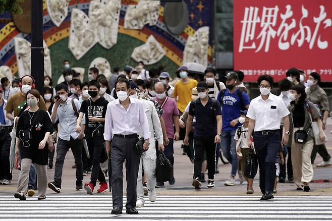
MULTIPOLYGON (((54 105, 54 98, 53 98, 53 88, 51 87, 44 87, 44 101, 47 107, 47 112, 49 115, 52 114, 52 108, 54 105)), ((49 169, 53 168, 53 158, 54 158, 54 144, 57 143, 57 128, 58 128, 58 123, 53 124, 54 128, 54 133, 52 136, 52 139, 48 139, 49 142, 47 142, 48 145, 48 167, 49 169), (50 142, 52 141, 52 142, 50 142)))

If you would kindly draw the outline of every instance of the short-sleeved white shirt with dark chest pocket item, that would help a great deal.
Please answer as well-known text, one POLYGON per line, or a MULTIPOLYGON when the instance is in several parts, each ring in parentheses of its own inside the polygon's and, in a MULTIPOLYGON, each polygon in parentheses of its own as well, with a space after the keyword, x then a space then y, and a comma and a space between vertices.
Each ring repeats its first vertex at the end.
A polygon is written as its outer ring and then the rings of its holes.
POLYGON ((289 115, 284 101, 270 93, 266 100, 261 95, 251 100, 247 117, 255 120, 254 131, 278 130, 282 118, 289 115))

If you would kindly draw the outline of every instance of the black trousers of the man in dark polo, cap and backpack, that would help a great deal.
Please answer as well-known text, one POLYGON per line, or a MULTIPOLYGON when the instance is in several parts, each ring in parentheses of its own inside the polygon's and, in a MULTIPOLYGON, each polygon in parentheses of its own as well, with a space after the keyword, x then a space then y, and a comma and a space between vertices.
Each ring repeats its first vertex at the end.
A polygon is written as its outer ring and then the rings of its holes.
POLYGON ((215 143, 213 137, 194 137, 194 177, 202 176, 202 162, 206 152, 208 178, 214 179, 215 173, 215 143))

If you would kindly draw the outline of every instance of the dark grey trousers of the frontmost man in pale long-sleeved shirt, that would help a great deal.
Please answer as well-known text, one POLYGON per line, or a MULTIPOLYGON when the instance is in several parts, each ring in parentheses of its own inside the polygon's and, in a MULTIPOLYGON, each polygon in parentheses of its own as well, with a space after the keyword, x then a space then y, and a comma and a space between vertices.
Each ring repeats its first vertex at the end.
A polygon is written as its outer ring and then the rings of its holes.
POLYGON ((122 209, 123 195, 123 163, 126 161, 127 203, 126 208, 136 207, 136 185, 140 156, 135 150, 138 138, 113 137, 110 148, 110 161, 112 161, 112 198, 113 208, 122 209))

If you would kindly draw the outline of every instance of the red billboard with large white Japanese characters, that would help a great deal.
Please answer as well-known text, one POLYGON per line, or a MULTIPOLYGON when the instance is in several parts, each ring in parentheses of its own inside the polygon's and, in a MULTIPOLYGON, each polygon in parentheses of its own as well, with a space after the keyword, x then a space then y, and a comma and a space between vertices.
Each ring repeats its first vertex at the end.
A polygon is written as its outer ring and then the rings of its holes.
POLYGON ((234 69, 278 81, 295 67, 332 81, 332 0, 234 0, 234 69))

